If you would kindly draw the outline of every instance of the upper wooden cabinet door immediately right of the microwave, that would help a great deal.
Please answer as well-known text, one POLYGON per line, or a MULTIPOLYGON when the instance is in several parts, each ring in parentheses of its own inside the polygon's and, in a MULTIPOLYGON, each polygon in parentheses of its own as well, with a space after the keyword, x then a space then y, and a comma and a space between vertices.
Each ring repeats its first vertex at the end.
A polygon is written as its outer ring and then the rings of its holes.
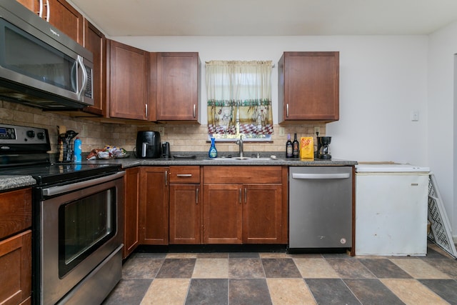
POLYGON ((94 54, 94 106, 88 106, 84 111, 106 116, 106 38, 87 19, 84 19, 84 47, 94 54))

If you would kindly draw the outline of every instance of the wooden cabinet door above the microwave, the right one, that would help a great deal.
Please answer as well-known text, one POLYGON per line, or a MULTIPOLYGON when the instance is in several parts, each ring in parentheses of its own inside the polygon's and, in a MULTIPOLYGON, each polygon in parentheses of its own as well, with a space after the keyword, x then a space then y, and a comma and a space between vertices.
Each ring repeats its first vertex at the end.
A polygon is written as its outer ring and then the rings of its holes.
POLYGON ((63 31, 71 39, 84 44, 84 17, 65 0, 44 1, 43 18, 57 29, 63 31), (49 3, 49 6, 46 4, 49 3))

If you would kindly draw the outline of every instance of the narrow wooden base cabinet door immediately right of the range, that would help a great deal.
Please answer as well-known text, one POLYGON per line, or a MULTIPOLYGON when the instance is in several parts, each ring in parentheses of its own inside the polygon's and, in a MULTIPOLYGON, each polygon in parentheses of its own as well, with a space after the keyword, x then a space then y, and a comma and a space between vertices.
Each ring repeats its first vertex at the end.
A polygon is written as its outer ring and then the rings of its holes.
POLYGON ((140 169, 126 169, 124 199, 124 256, 139 245, 140 169))

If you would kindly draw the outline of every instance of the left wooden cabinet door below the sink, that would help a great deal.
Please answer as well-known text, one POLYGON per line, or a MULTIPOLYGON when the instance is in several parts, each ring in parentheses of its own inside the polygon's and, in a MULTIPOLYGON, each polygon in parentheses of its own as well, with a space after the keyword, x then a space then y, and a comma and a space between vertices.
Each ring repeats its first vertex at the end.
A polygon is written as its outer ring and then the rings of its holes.
POLYGON ((204 185, 205 244, 241 244, 242 185, 204 185))

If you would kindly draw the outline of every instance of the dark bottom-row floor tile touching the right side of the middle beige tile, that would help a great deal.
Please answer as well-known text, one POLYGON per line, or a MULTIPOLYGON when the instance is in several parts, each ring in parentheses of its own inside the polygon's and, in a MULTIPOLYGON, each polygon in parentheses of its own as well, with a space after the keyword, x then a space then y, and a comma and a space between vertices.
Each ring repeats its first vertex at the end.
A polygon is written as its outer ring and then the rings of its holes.
POLYGON ((361 304, 342 279, 305 279, 317 304, 361 304))

